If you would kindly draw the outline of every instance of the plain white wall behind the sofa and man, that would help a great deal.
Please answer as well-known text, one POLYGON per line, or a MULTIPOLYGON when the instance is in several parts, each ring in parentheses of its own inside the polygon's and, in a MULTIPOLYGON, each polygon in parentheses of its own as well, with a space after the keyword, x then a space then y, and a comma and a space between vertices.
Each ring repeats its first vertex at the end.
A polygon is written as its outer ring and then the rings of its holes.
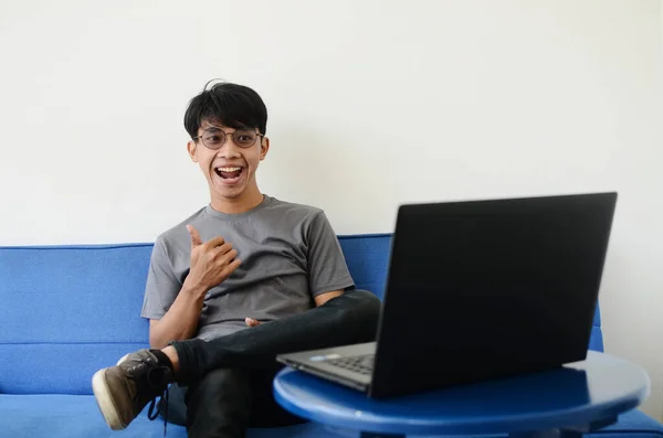
POLYGON ((0 3, 0 245, 152 241, 207 197, 204 82, 270 108, 262 189, 338 233, 404 201, 618 190, 607 350, 663 394, 656 0, 0 3))

